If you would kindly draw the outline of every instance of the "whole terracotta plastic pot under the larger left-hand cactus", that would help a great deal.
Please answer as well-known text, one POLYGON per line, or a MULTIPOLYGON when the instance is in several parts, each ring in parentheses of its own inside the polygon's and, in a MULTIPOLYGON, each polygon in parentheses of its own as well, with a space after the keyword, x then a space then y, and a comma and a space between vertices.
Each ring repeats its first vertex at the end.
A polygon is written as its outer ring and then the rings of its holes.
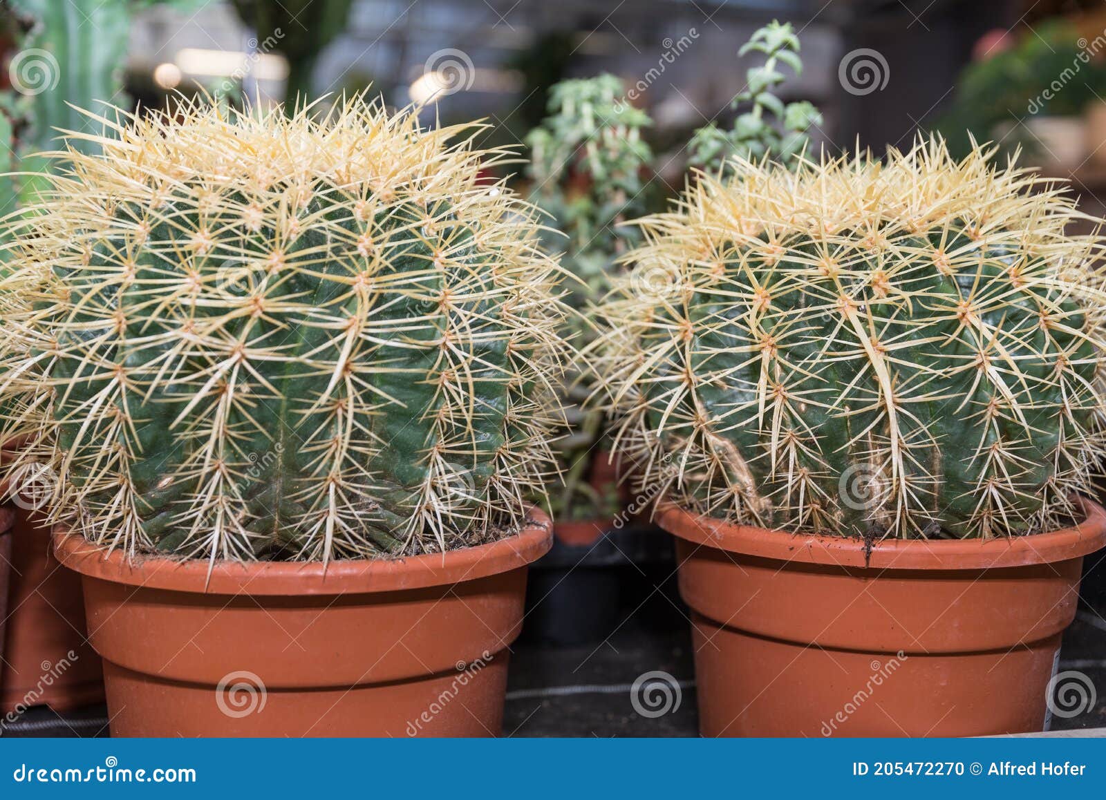
POLYGON ((495 736, 526 566, 551 523, 396 560, 128 562, 58 529, 83 577, 113 736, 495 736))

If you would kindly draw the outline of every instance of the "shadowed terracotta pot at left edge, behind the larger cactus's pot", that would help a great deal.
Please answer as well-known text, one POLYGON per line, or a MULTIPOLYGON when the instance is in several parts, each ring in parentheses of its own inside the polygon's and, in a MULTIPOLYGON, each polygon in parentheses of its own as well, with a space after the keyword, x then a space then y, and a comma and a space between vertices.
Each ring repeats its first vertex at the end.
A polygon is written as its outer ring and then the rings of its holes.
MULTIPOLYGON (((23 442, 6 442, 0 460, 23 442)), ((0 487, 3 496, 7 486, 0 487)), ((104 702, 100 656, 88 644, 80 576, 62 569, 50 529, 31 509, 14 505, 8 624, 0 642, 0 716, 48 705, 64 713, 104 702)))

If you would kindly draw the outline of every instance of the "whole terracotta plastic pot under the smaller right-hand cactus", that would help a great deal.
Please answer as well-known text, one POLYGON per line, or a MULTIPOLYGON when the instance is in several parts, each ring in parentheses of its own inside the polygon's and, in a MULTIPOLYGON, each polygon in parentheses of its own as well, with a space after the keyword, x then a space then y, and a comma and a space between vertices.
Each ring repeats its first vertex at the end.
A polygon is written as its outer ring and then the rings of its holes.
POLYGON ((705 736, 973 736, 1046 726, 1106 512, 1039 536, 793 535, 666 505, 705 736))

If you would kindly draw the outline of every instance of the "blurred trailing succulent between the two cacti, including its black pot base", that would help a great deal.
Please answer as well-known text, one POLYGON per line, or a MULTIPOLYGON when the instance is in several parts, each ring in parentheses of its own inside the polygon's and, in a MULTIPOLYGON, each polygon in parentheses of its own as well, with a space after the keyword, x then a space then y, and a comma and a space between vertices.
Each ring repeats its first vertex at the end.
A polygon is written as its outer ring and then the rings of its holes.
MULTIPOLYGON (((549 217, 544 248, 572 275, 567 301, 581 314, 571 331, 585 348, 595 328, 584 313, 611 291, 618 259, 638 241, 623 223, 648 210, 653 152, 644 134, 653 122, 614 75, 555 84, 549 112, 526 137, 526 178, 531 200, 549 217)), ((629 465, 613 450, 606 414, 583 408, 587 364, 573 367, 560 389, 567 421, 557 442, 563 483, 550 488, 555 544, 534 570, 528 612, 528 635, 560 645, 608 636, 623 604, 645 586, 649 562, 670 551, 662 537, 641 531, 612 538, 629 516, 620 481, 629 465)))

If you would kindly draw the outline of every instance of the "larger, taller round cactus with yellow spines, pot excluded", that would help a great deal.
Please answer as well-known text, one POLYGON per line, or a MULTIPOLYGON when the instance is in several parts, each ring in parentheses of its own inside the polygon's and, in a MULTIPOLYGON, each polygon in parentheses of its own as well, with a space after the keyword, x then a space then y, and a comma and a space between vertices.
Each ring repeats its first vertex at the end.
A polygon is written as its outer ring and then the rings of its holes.
POLYGON ((518 526, 564 351, 529 207, 460 129, 186 107, 71 151, 44 267, 54 516, 127 552, 417 554, 518 526))

